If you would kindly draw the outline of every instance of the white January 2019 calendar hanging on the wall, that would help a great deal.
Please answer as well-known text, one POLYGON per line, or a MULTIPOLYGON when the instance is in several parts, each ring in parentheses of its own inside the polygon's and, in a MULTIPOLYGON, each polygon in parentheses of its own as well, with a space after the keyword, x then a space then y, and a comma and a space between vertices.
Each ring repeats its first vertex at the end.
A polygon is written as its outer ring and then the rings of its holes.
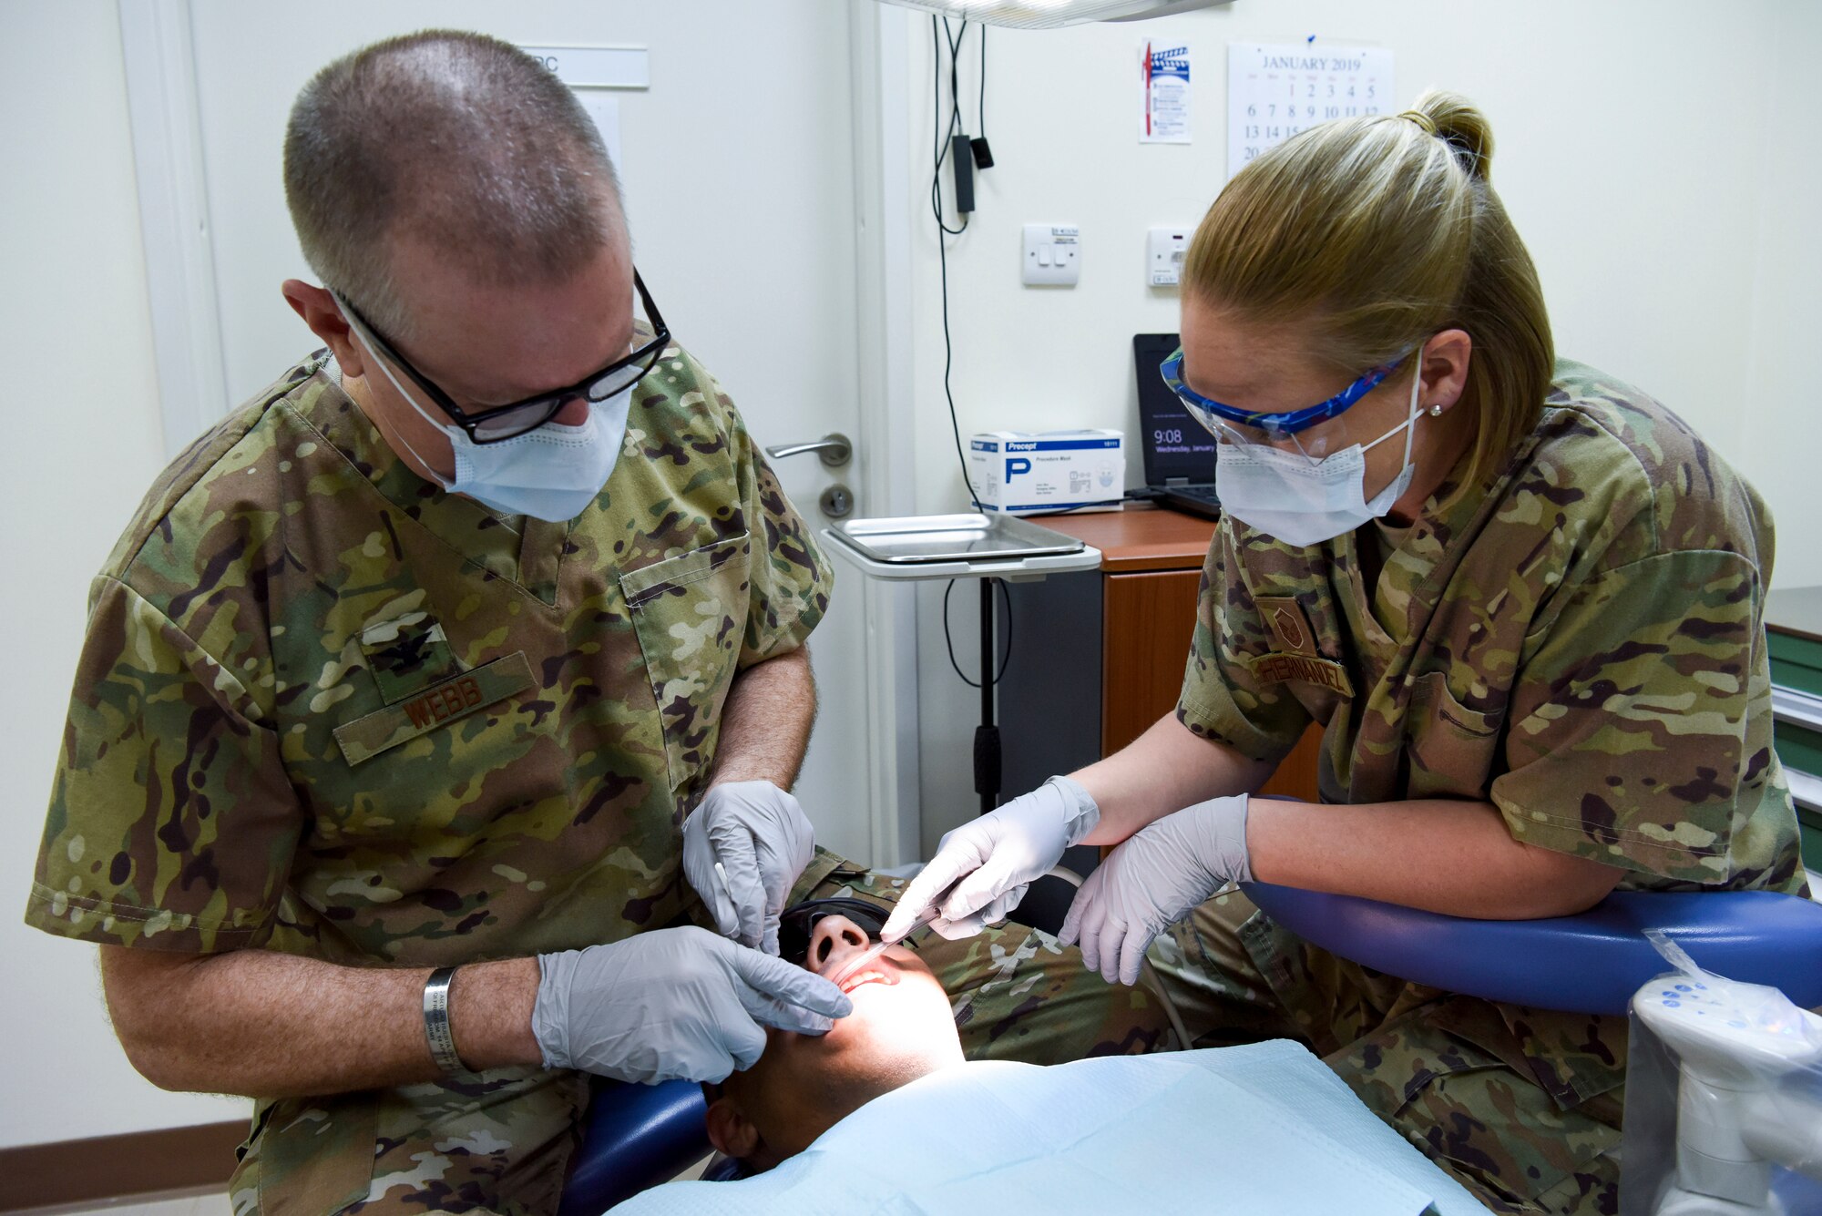
POLYGON ((1385 47, 1230 42, 1228 177, 1317 122, 1379 115, 1390 104, 1385 47))

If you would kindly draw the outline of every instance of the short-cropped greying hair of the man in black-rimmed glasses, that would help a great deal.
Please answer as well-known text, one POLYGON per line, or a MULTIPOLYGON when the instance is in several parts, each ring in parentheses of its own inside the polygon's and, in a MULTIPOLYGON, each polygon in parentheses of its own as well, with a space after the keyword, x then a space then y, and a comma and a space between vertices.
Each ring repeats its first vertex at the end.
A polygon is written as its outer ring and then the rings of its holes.
POLYGON ((410 237, 476 282, 561 282, 625 235, 601 133, 541 62, 486 35, 425 29, 319 71, 284 131, 284 200, 304 258, 388 337, 410 237))

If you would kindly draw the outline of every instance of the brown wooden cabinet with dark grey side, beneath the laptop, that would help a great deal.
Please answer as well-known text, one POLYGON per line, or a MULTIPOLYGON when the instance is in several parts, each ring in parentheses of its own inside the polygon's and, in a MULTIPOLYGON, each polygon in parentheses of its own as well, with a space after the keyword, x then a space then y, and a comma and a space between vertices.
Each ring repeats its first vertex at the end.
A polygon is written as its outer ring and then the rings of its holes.
MULTIPOLYGON (((1215 522, 1155 508, 1035 522, 1100 550, 1100 570, 1011 584, 1000 684, 1006 794, 1121 750, 1177 706, 1215 522)), ((1317 799, 1310 728, 1264 794, 1317 799)))

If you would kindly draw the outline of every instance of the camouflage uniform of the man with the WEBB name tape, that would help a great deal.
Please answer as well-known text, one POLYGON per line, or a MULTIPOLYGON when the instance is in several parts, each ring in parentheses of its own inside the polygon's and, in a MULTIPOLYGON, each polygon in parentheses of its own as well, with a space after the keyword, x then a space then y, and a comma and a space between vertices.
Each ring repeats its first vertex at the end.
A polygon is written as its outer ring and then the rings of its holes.
MULTIPOLYGON (((95 581, 27 919, 352 967, 707 923, 680 825, 727 690, 804 643, 829 584, 678 348, 568 524, 419 479, 319 353, 166 470, 95 581)), ((844 885, 871 879, 829 854, 800 883, 844 885)), ((1073 950, 1022 930, 933 963, 977 1056, 1159 1039, 1142 994, 1086 985, 1073 950)), ((262 1099, 235 1212, 550 1212, 587 1094, 497 1069, 262 1099)))

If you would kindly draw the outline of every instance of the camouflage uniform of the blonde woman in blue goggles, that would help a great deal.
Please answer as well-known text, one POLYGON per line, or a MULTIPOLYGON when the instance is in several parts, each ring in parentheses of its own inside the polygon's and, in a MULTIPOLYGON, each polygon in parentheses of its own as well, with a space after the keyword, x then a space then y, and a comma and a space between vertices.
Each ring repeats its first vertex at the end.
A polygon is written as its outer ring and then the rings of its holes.
MULTIPOLYGON (((1374 532, 1295 548, 1223 521, 1190 730, 1275 763, 1319 723, 1323 801, 1489 801, 1514 839, 1627 890, 1806 890, 1771 750, 1771 522, 1680 419, 1561 364, 1505 471, 1432 499, 1368 586, 1374 532)), ((1157 956, 1201 1045, 1310 1043, 1496 1211, 1616 1211, 1623 1019, 1410 985, 1239 894, 1157 956)))

